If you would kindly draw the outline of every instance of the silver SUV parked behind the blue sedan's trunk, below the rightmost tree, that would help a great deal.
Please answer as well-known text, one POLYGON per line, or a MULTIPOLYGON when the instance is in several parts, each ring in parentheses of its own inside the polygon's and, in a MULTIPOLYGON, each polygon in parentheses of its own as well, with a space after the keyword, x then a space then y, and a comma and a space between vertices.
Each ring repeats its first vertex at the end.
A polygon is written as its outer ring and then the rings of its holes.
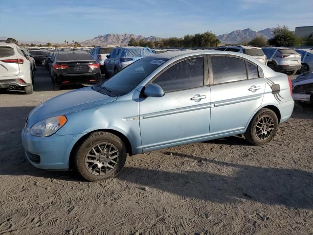
POLYGON ((301 69, 301 55, 294 49, 285 47, 263 47, 268 58, 268 67, 276 72, 294 75, 301 69))

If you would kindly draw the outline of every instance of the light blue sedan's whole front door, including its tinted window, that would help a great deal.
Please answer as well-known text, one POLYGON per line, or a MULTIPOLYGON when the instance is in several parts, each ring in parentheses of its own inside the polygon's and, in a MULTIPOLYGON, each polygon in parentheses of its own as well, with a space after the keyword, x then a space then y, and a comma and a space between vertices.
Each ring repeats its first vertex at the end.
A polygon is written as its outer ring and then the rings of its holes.
POLYGON ((211 94, 210 87, 204 86, 203 60, 198 56, 174 63, 153 79, 165 95, 140 100, 144 152, 208 137, 211 94))

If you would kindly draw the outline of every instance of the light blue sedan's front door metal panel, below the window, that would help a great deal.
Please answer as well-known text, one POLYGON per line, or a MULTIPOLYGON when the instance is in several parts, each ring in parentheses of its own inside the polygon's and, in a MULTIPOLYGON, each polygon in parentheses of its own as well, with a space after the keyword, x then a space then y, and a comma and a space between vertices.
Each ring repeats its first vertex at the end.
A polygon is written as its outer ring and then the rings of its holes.
POLYGON ((143 150, 207 138, 210 101, 209 86, 169 92, 163 97, 141 98, 139 114, 143 150))

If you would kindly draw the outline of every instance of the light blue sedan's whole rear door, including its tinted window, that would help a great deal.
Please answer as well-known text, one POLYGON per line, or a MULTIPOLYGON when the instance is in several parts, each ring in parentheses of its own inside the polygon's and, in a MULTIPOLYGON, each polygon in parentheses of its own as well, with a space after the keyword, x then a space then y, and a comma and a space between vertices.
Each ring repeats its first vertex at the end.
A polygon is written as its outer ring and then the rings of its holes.
POLYGON ((242 131, 262 104, 263 72, 241 57, 211 55, 209 58, 210 77, 213 78, 210 136, 242 131))

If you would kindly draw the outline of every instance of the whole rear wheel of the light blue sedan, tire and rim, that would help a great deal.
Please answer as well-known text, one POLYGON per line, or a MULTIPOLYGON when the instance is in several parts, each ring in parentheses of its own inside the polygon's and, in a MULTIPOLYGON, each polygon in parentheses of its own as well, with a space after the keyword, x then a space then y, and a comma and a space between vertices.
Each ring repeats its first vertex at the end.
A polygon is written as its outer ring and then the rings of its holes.
POLYGON ((274 138, 277 128, 278 128, 278 118, 276 114, 270 109, 263 108, 260 109, 256 113, 256 115, 252 118, 244 135, 248 142, 254 145, 262 145, 268 143, 274 138), (264 126, 261 125, 260 122, 261 123, 263 122, 264 126))

